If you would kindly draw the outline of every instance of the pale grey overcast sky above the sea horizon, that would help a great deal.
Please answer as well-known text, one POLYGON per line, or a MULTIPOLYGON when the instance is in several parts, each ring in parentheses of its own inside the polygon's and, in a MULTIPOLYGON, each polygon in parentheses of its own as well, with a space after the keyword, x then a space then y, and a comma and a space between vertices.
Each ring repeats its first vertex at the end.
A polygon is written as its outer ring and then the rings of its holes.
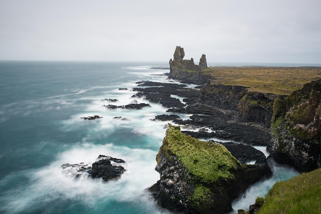
POLYGON ((321 63, 320 0, 0 0, 0 60, 321 63))

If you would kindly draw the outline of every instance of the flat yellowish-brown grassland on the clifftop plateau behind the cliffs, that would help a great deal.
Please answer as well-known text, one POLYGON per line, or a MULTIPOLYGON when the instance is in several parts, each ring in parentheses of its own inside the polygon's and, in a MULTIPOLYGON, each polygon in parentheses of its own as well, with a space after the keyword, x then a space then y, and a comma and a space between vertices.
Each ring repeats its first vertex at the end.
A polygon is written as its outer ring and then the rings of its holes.
POLYGON ((321 78, 321 67, 209 67, 211 84, 240 85, 249 91, 289 95, 321 78))

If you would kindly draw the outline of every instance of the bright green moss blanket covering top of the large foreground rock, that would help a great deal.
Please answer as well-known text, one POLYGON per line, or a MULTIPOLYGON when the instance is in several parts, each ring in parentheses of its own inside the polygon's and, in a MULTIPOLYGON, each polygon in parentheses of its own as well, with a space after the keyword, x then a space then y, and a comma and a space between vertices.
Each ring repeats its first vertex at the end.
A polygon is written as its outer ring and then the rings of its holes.
POLYGON ((230 171, 240 165, 222 144, 186 136, 180 132, 179 126, 171 124, 163 141, 163 150, 168 157, 176 156, 200 182, 234 179, 230 171))

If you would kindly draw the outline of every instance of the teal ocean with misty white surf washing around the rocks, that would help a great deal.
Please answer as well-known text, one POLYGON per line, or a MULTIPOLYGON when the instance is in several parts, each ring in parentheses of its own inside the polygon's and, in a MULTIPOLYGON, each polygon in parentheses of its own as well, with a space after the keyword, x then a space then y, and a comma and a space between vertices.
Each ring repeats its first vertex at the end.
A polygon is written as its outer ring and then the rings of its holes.
MULTIPOLYGON (((156 155, 168 121, 165 108, 133 98, 137 81, 168 80, 168 62, 0 61, 0 213, 170 213, 147 190, 159 180, 156 155), (128 90, 119 90, 119 89, 128 90), (109 110, 149 103, 142 110, 109 110), (112 103, 111 103, 112 104, 112 103), (84 120, 98 115, 102 118, 84 120), (62 164, 126 161, 118 180, 75 179, 62 164)), ((190 85, 189 87, 193 87, 190 85)), ((179 115, 183 119, 190 115, 179 115)), ((268 153, 265 147, 260 150, 268 153)), ((279 180, 298 175, 273 164, 274 176, 250 187, 234 210, 247 209, 279 180)))

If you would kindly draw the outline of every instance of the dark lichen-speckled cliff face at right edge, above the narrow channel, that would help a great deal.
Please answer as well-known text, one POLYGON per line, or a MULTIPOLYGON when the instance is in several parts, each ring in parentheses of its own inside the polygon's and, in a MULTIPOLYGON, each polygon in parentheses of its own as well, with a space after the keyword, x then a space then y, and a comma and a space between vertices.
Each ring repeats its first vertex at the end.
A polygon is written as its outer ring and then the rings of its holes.
POLYGON ((303 172, 321 167, 321 80, 275 99, 271 155, 303 172))

